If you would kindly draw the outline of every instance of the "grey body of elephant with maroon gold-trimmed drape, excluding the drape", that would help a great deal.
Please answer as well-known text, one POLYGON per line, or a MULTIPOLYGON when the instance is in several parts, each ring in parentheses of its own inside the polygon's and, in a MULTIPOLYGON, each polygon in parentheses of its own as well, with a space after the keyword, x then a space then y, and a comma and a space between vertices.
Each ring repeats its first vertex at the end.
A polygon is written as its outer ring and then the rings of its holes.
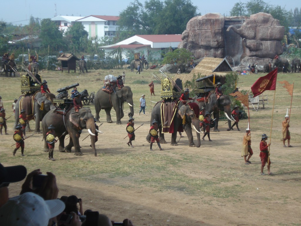
MULTIPOLYGON (((192 103, 194 104, 194 103, 192 103)), ((189 140, 189 146, 190 147, 200 147, 201 146, 201 141, 200 141, 200 121, 198 118, 198 115, 195 113, 200 112, 200 108, 197 106, 197 104, 194 105, 182 105, 181 107, 177 108, 175 110, 175 116, 174 116, 174 121, 173 121, 173 132, 172 132, 172 137, 171 137, 171 144, 172 146, 177 146, 177 133, 178 133, 178 128, 181 126, 183 117, 185 115, 185 124, 183 125, 183 129, 185 130, 188 140, 189 140), (193 106, 193 107, 191 107, 193 106), (194 130, 196 130, 197 133, 197 145, 194 144, 193 141, 193 135, 192 135, 192 127, 194 127, 194 130)), ((162 117, 161 117, 161 102, 158 102, 151 113, 151 122, 153 120, 158 121, 158 127, 159 127, 159 140, 160 143, 166 143, 165 138, 164 138, 164 133, 162 133, 162 117)), ((146 140, 148 142, 151 141, 151 135, 147 134, 146 140)))

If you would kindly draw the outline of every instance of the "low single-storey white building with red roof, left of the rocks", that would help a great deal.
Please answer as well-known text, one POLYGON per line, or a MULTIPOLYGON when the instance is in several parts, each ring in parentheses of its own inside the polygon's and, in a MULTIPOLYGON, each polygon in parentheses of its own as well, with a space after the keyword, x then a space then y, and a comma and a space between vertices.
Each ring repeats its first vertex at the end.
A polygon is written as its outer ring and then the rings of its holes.
POLYGON ((182 41, 182 35, 135 35, 113 45, 101 46, 106 52, 111 52, 114 49, 121 48, 124 59, 129 58, 128 52, 140 52, 140 55, 146 59, 160 60, 162 51, 166 48, 177 49, 178 44, 182 41))

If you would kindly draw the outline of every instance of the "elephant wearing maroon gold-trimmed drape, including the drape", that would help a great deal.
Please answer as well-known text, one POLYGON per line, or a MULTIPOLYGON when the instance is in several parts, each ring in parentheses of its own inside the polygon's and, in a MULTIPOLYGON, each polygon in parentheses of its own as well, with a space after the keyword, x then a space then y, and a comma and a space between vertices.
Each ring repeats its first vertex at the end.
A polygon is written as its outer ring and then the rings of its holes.
MULTIPOLYGON (((196 103, 187 103, 183 105, 179 100, 157 102, 151 113, 151 122, 154 120, 158 122, 160 143, 166 143, 164 133, 172 133, 171 145, 177 146, 177 133, 178 131, 183 132, 183 130, 185 130, 189 140, 189 146, 200 147, 199 113, 200 108, 196 103), (164 111, 162 109, 169 109, 169 111, 164 111), (169 112, 170 114, 166 112, 169 112), (184 125, 183 121, 185 121, 184 125), (197 145, 195 145, 193 141, 192 127, 194 127, 197 133, 197 145)), ((149 133, 147 134, 146 140, 148 142, 151 141, 151 135, 149 133)))

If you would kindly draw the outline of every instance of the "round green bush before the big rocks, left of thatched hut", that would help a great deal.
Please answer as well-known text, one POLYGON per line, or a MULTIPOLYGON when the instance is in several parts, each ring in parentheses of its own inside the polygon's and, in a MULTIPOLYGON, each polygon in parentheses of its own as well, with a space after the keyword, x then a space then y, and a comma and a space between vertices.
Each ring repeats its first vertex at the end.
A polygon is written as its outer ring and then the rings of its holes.
POLYGON ((176 49, 174 51, 167 52, 163 59, 163 64, 186 64, 192 57, 193 53, 187 49, 176 49))

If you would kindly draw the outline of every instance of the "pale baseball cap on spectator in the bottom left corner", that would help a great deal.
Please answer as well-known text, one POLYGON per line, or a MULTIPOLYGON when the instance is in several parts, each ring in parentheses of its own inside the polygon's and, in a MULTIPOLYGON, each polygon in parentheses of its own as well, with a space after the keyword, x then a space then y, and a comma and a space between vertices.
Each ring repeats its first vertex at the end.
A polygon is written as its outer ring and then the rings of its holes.
POLYGON ((41 196, 27 192, 8 199, 0 208, 0 225, 47 226, 49 219, 64 209, 61 200, 45 201, 41 196))

